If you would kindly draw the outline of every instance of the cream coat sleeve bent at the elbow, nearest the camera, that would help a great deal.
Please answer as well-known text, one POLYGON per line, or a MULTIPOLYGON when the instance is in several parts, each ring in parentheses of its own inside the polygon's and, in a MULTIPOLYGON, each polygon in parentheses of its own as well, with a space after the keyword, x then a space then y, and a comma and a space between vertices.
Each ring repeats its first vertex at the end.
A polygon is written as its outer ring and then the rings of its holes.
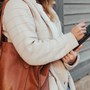
POLYGON ((30 65, 59 60, 78 46, 72 33, 57 39, 39 40, 32 13, 22 0, 10 0, 7 3, 3 24, 17 52, 30 65))

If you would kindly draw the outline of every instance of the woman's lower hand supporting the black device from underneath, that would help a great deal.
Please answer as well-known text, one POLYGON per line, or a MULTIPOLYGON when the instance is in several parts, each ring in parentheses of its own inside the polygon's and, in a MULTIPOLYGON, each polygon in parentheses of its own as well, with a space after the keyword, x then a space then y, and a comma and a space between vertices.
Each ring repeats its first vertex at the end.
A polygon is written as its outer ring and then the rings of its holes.
POLYGON ((62 58, 63 62, 73 65, 76 62, 76 58, 77 58, 77 54, 80 51, 80 49, 82 48, 82 45, 80 45, 75 51, 71 51, 69 52, 66 56, 64 56, 62 58))

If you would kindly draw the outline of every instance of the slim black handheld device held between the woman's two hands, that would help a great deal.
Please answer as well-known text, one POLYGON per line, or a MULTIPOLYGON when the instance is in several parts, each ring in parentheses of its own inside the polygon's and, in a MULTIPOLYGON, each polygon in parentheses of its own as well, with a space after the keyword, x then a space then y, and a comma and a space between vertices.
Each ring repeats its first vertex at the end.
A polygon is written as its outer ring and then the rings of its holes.
MULTIPOLYGON (((80 46, 81 44, 83 44, 89 37, 90 37, 90 25, 88 25, 88 26, 86 27, 85 36, 78 41, 79 46, 80 46)), ((79 46, 77 46, 77 47, 74 48, 73 50, 77 49, 79 46)))

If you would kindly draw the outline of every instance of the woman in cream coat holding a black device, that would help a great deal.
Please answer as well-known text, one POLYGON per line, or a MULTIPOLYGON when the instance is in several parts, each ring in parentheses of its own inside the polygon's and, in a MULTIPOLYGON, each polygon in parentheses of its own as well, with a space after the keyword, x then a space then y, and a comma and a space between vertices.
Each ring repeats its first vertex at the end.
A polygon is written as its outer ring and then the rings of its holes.
POLYGON ((50 90, 75 90, 68 70, 78 63, 81 46, 73 49, 84 36, 86 25, 80 23, 63 35, 53 3, 53 0, 9 0, 3 15, 3 33, 28 64, 50 63, 50 90))

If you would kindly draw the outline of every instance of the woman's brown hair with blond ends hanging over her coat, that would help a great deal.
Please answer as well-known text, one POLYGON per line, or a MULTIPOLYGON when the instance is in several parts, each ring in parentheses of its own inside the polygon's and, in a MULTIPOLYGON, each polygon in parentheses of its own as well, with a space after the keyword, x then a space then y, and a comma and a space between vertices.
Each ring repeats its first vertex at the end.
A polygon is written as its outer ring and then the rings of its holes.
POLYGON ((55 14, 52 12, 52 7, 55 4, 55 0, 36 0, 38 3, 40 3, 46 14, 49 16, 51 20, 54 20, 55 14))

